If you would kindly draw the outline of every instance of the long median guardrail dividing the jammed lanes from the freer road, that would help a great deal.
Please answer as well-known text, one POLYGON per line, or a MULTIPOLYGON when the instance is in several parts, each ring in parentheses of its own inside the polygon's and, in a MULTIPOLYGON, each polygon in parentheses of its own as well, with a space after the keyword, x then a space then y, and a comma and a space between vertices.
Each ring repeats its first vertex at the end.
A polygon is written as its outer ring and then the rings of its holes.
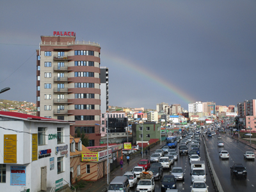
POLYGON ((224 192, 223 189, 222 189, 222 186, 220 184, 220 180, 214 170, 214 167, 213 167, 213 164, 212 164, 212 161, 211 161, 211 158, 209 156, 209 153, 208 153, 208 150, 207 150, 207 146, 206 146, 206 143, 205 143, 205 138, 204 138, 205 134, 203 134, 203 141, 204 141, 204 150, 205 150, 205 156, 206 156, 206 159, 207 159, 207 163, 208 163, 208 166, 209 166, 209 170, 211 172, 211 176, 212 176, 212 180, 214 182, 214 186, 215 188, 217 188, 219 192, 224 192))

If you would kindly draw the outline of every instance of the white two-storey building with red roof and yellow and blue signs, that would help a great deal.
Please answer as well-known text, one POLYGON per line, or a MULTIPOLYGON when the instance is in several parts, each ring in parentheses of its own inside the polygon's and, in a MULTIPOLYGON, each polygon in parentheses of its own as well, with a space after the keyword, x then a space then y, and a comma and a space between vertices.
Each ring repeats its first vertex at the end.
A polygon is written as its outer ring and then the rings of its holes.
POLYGON ((0 127, 1 191, 46 191, 70 182, 69 122, 0 111, 0 127))

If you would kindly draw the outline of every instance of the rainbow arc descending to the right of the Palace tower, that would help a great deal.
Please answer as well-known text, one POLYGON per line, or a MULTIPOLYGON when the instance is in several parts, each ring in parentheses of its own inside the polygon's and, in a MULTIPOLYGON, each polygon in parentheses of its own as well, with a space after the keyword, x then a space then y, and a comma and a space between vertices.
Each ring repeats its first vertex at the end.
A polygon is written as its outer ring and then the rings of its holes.
MULTIPOLYGON (((109 63, 114 63, 117 67, 122 66, 125 68, 130 68, 132 71, 140 74, 140 76, 146 77, 150 81, 159 84, 159 86, 163 87, 164 89, 167 89, 168 91, 176 95, 179 99, 182 99, 187 103, 193 103, 196 101, 196 99, 191 97, 188 93, 184 92, 183 90, 180 90, 174 84, 166 82, 164 79, 157 76, 156 73, 147 70, 147 68, 142 68, 140 67, 140 65, 132 61, 110 54, 109 52, 106 52, 106 54, 104 54, 104 56, 102 57, 109 60, 109 63)), ((106 63, 106 61, 104 63, 106 63)))

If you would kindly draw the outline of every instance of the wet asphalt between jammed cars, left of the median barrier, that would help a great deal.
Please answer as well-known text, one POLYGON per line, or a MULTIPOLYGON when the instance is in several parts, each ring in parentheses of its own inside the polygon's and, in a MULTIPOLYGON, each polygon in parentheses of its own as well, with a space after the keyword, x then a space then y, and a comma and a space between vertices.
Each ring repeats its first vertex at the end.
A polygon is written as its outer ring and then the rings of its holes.
MULTIPOLYGON (((191 145, 191 142, 188 143, 188 147, 190 147, 191 145)), ((177 150, 179 149, 179 143, 178 143, 178 146, 176 147, 177 150)), ((152 152, 151 152, 152 154, 152 152)), ((201 141, 201 145, 200 145, 200 157, 201 157, 201 161, 205 161, 205 164, 206 164, 206 159, 205 159, 205 152, 204 152, 204 146, 203 146, 203 142, 201 141)), ((149 156, 146 156, 145 159, 148 159, 149 156)), ((134 166, 137 165, 138 162, 132 162, 129 164, 129 166, 131 166, 132 168, 134 166)), ((190 175, 190 164, 189 164, 189 159, 188 159, 188 156, 187 155, 180 155, 178 160, 175 161, 174 164, 172 164, 172 167, 173 166, 181 166, 184 170, 185 170, 185 179, 184 181, 183 180, 177 180, 177 189, 179 189, 181 192, 182 191, 191 191, 191 175, 190 175)), ((171 170, 171 169, 170 169, 171 170)), ((164 169, 164 175, 168 175, 170 174, 170 170, 168 169, 164 169)), ((214 187, 213 187, 213 183, 212 183, 212 180, 211 180, 211 175, 209 174, 209 169, 207 167, 207 164, 206 164, 206 173, 208 173, 206 175, 206 184, 209 186, 209 192, 214 192, 214 187)), ((156 188, 155 188, 155 191, 156 192, 159 192, 161 191, 161 182, 159 180, 155 180, 155 183, 156 183, 156 188)), ((136 188, 131 188, 130 189, 131 192, 135 192, 136 191, 136 188)))

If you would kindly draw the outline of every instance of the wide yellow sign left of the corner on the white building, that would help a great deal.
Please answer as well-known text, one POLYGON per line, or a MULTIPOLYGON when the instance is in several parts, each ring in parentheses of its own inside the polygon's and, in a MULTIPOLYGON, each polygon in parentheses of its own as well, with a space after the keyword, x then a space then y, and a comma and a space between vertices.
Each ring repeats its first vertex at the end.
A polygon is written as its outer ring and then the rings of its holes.
POLYGON ((17 163, 17 134, 4 134, 4 163, 17 163))

